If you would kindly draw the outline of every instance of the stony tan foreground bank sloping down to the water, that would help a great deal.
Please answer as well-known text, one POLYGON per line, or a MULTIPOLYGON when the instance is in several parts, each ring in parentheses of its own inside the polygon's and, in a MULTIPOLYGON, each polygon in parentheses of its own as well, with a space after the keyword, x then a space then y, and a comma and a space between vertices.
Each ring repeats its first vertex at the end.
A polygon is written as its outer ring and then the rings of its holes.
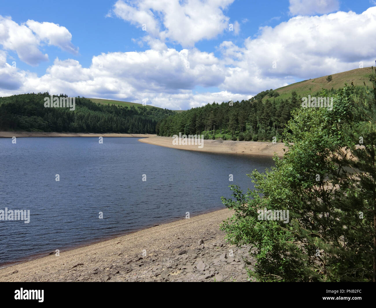
POLYGON ((54 252, 0 269, 0 281, 249 281, 249 247, 229 246, 218 228, 230 215, 222 209, 54 252))

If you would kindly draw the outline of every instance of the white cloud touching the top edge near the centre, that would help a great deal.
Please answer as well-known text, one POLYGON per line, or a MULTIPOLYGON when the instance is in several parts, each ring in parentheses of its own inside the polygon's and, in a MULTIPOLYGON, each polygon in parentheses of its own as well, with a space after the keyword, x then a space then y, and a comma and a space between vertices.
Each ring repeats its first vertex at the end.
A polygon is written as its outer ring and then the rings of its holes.
MULTIPOLYGON (((202 39, 215 38, 229 27, 223 9, 234 0, 118 0, 107 16, 134 24, 161 41, 170 40, 192 47, 202 39)), ((236 21, 235 32, 239 31, 236 21)), ((237 34, 236 33, 236 34, 237 34)))

